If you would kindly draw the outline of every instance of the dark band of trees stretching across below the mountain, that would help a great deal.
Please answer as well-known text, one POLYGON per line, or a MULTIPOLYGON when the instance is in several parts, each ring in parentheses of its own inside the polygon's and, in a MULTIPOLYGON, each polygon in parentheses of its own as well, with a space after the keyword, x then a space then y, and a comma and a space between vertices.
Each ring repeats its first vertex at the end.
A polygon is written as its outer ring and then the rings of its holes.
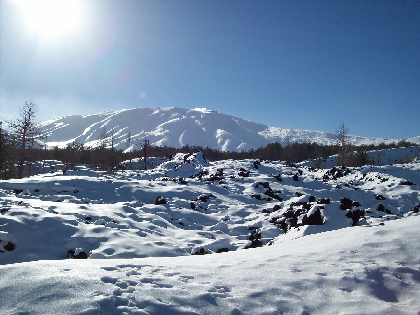
MULTIPOLYGON (((317 167, 322 167, 323 159, 327 156, 339 154, 338 163, 350 167, 375 164, 375 160, 367 154, 370 150, 391 149, 396 147, 416 146, 410 142, 391 144, 369 144, 354 146, 349 141, 349 130, 341 123, 336 130, 335 144, 318 143, 284 143, 274 142, 247 151, 220 151, 210 147, 185 145, 180 148, 168 146, 152 146, 146 137, 136 139, 130 133, 126 139, 126 150, 115 149, 115 135, 113 130, 100 130, 97 137, 97 147, 86 147, 83 143, 72 142, 66 147, 55 146, 47 149, 43 142, 41 131, 34 122, 37 115, 37 105, 30 100, 21 107, 21 115, 11 121, 5 121, 7 129, 3 129, 0 122, 0 178, 22 178, 34 173, 43 173, 43 167, 32 170, 34 161, 58 160, 66 164, 67 169, 74 169, 76 164, 88 164, 95 170, 113 170, 118 163, 140 158, 141 163, 136 168, 153 168, 151 159, 147 157, 168 157, 175 153, 202 151, 210 161, 216 160, 282 160, 285 163, 297 163, 304 160, 314 160, 317 167), (135 149, 137 147, 138 149, 135 149)), ((128 163, 132 165, 132 163, 128 163)), ((131 166, 129 166, 131 167, 131 166)))

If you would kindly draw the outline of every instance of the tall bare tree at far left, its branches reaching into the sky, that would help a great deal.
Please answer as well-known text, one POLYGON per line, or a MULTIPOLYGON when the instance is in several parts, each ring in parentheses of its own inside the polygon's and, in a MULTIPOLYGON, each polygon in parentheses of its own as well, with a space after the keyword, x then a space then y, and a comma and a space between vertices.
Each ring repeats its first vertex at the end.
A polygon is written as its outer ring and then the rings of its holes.
POLYGON ((22 178, 24 170, 25 149, 27 144, 35 139, 40 139, 40 129, 35 122, 35 117, 38 115, 38 105, 33 100, 25 101, 21 106, 19 117, 12 120, 5 120, 10 129, 11 137, 16 140, 20 151, 20 164, 18 171, 18 178, 22 178))

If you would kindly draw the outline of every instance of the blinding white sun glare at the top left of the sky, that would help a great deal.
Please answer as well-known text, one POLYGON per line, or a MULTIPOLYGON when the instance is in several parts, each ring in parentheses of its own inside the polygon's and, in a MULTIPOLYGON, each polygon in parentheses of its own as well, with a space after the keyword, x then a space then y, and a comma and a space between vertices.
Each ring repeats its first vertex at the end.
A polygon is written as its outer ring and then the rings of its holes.
POLYGON ((26 21, 42 36, 54 36, 76 28, 79 5, 72 0, 23 0, 26 21))

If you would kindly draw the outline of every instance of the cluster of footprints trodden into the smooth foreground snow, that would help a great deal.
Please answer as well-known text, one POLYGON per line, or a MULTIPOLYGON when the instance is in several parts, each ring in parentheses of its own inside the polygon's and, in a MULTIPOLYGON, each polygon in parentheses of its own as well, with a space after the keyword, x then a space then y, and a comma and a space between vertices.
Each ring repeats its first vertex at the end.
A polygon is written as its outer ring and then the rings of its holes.
MULTIPOLYGON (((95 297, 104 296, 98 303, 107 312, 127 312, 128 314, 198 314, 190 311, 194 304, 188 297, 176 297, 175 304, 163 301, 164 291, 150 291, 150 289, 172 289, 168 296, 171 300, 177 290, 190 289, 197 293, 195 299, 202 299, 213 305, 218 305, 218 298, 232 297, 231 290, 227 286, 211 285, 210 283, 191 282, 194 276, 182 275, 176 270, 170 270, 165 266, 154 267, 151 265, 123 264, 115 267, 101 267, 110 272, 110 276, 102 276, 103 283, 115 286, 111 294, 100 291, 92 292, 95 297), (201 293, 200 293, 201 291, 201 293), (141 297, 141 300, 136 298, 141 297), (156 293, 154 293, 156 292, 156 293), (154 295, 158 294, 158 297, 154 295), (178 299, 185 299, 184 302, 178 299), (191 305, 189 305, 191 304, 191 305), (184 310, 185 308, 185 310, 184 310)), ((153 290, 152 289, 152 290, 153 290)))

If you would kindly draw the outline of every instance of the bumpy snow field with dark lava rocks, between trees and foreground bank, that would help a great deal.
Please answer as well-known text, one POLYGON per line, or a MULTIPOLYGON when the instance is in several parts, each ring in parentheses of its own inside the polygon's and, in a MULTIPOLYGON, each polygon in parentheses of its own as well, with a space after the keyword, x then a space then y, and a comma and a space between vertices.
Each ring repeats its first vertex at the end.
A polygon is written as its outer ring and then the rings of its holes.
POLYGON ((232 251, 379 224, 420 207, 418 159, 330 171, 258 163, 179 153, 149 171, 79 167, 0 181, 0 249, 16 245, 0 262, 64 259, 77 248, 91 259, 232 251))

